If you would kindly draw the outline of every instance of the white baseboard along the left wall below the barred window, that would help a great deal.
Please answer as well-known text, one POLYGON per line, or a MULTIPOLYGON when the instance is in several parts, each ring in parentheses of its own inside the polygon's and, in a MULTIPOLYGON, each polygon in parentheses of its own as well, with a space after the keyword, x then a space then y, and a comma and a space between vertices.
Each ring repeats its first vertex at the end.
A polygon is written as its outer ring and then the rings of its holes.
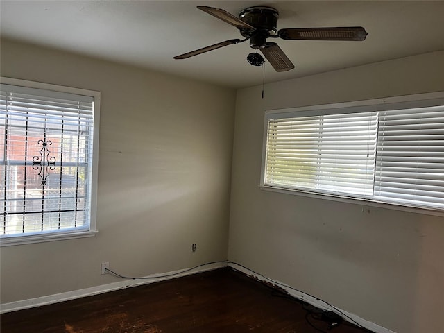
POLYGON ((37 298, 31 298, 29 300, 18 300, 17 302, 9 302, 0 305, 0 314, 4 314, 6 312, 12 312, 22 309, 28 309, 31 307, 41 307, 43 305, 49 305, 58 302, 65 302, 66 300, 74 300, 76 298, 82 298, 86 296, 97 295, 99 293, 107 293, 108 291, 115 291, 119 289, 125 289, 129 287, 136 287, 142 284, 149 284, 154 282, 160 282, 164 280, 171 280, 173 278, 179 278, 185 275, 191 275, 196 273, 202 273, 205 271, 212 271, 216 268, 225 267, 227 264, 225 262, 218 262, 214 264, 209 264, 206 266, 202 266, 196 269, 188 270, 178 270, 169 273, 162 274, 152 274, 148 275, 145 278, 149 278, 148 280, 136 279, 136 280, 123 280, 119 282, 113 282, 110 284, 102 284, 101 286, 90 287, 85 289, 79 289, 74 291, 67 291, 66 293, 56 293, 54 295, 42 296, 37 298), (181 273, 182 272, 182 273, 181 273), (174 275, 169 276, 167 278, 159 277, 157 275, 174 275))

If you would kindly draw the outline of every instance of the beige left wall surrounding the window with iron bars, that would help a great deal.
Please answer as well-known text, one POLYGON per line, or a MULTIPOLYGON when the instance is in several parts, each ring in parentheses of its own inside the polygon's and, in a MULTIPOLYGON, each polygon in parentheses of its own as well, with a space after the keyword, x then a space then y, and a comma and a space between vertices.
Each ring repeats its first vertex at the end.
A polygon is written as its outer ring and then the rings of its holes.
POLYGON ((8 40, 1 75, 102 93, 99 234, 1 248, 2 303, 226 259, 234 89, 8 40))

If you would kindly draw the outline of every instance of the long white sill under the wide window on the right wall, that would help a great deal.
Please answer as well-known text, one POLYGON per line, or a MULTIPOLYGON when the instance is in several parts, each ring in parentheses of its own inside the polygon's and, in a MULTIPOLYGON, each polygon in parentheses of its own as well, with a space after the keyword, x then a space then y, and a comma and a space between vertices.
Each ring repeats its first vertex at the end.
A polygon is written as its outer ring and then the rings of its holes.
MULTIPOLYGON (((318 194, 310 191, 302 191, 298 189, 286 189, 282 187, 273 187, 269 185, 259 185, 259 188, 264 191, 272 191, 283 194, 292 194, 296 196, 308 196, 309 198, 318 198, 323 200, 333 200, 340 201, 343 203, 353 203, 355 205, 365 205, 371 207, 381 207, 388 210, 400 210, 402 212, 412 212, 417 214, 434 215, 434 216, 444 216, 443 210, 433 210, 426 207, 409 207, 403 205, 396 205, 394 203, 381 203, 364 198, 348 198, 345 196, 335 196, 333 194, 318 194)), ((363 208, 364 212, 364 208, 363 208)))

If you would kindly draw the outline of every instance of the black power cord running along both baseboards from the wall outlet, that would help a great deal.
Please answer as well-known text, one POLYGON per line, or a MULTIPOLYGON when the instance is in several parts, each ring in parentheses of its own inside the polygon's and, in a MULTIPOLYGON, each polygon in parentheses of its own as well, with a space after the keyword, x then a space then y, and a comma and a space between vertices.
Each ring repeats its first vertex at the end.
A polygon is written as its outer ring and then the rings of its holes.
MULTIPOLYGON (((140 280, 153 280, 153 279, 158 279, 158 278, 171 278, 171 277, 173 277, 173 276, 177 276, 177 275, 180 275, 180 274, 183 274, 183 273, 187 273, 187 272, 190 272, 190 271, 194 271, 194 270, 197 269, 197 268, 204 267, 204 266, 210 266, 210 265, 212 265, 212 264, 233 264, 233 265, 236 265, 236 266, 239 266, 239 267, 241 267, 241 268, 246 269, 246 270, 249 271, 250 273, 253 273, 254 275, 257 275, 257 276, 263 278, 264 280, 268 280, 269 282, 272 282, 273 284, 275 284, 275 285, 277 285, 277 286, 279 286, 279 287, 288 288, 288 289, 291 289, 291 290, 293 290, 293 291, 298 291, 299 293, 305 293, 305 295, 310 296, 311 298, 314 298, 315 300, 321 301, 321 302, 323 302, 325 305, 327 305, 327 307, 330 307, 331 309, 334 309, 334 311, 335 311, 335 312, 338 312, 339 314, 341 314, 341 316, 343 316, 343 317, 345 317, 345 318, 348 318, 350 321, 352 321, 352 323, 355 323, 355 325, 357 325, 359 328, 361 328, 361 329, 363 329, 363 330, 366 330, 366 332, 373 333, 372 331, 366 329, 366 327, 364 327, 364 326, 362 326, 361 324, 357 323, 357 321, 355 321, 353 318, 350 318, 350 316, 348 316, 347 314, 344 314, 343 311, 341 311, 341 310, 338 309, 337 307, 334 307, 334 305, 331 305, 329 302, 326 302, 325 300, 321 300, 321 298, 317 298, 316 296, 313 296, 313 295, 311 295, 311 294, 309 294, 309 293, 307 293, 307 292, 305 292, 305 291, 300 291, 299 289, 296 289, 296 288, 294 288, 294 287, 291 287, 291 286, 289 286, 288 284, 284 284, 284 283, 282 283, 282 282, 278 282, 278 281, 273 280, 273 279, 271 279, 271 278, 267 278, 265 275, 262 275, 262 274, 260 274, 260 273, 257 273, 256 271, 253 271, 253 269, 250 269, 250 268, 248 268, 248 267, 246 267, 246 266, 244 266, 244 265, 242 265, 242 264, 239 264, 239 263, 237 263, 237 262, 232 262, 231 260, 219 260, 219 261, 215 261, 215 262, 206 262, 205 264, 200 264, 200 265, 198 265, 198 266, 194 266, 194 267, 192 267, 192 268, 187 268, 187 269, 185 269, 185 270, 183 270, 183 271, 180 271, 180 272, 171 273, 171 274, 164 274, 164 275, 156 275, 156 276, 146 276, 146 277, 125 276, 125 275, 121 275, 121 274, 119 274, 119 273, 116 273, 116 272, 110 270, 110 268, 105 268, 105 271, 108 271, 109 273, 111 273, 112 275, 116 276, 117 278, 122 278, 122 279, 132 279, 132 280, 138 280, 138 279, 140 279, 140 280)), ((234 269, 235 269, 235 268, 234 268, 234 269)), ((287 293, 287 294, 288 294, 288 293, 287 293)), ((288 294, 288 296, 289 296, 290 298, 293 298, 293 299, 295 299, 295 300, 298 300, 298 301, 300 301, 300 302, 302 302, 302 303, 307 304, 307 302, 306 302, 304 299, 302 299, 302 298, 298 298, 298 297, 296 297, 296 296, 291 296, 290 294, 288 294)), ((304 307, 304 304, 302 304, 302 307, 304 307)), ((314 307, 314 309, 316 309, 316 308, 314 307)), ((305 310, 308 311, 307 314, 306 314, 306 316, 305 316, 305 319, 307 320, 307 323, 309 323, 309 325, 311 325, 312 327, 314 327, 314 328, 315 328, 316 330, 318 330, 319 332, 326 333, 326 332, 324 332, 323 330, 319 329, 318 327, 315 327, 315 326, 314 326, 314 325, 308 320, 308 317, 307 317, 307 316, 310 315, 310 311, 309 311, 308 309, 305 309, 305 310)), ((323 310, 320 310, 320 311, 323 311, 323 310)), ((328 311, 323 311, 323 312, 328 312, 328 311)), ((339 325, 339 324, 338 324, 338 325, 339 325)), ((334 326, 334 327, 335 327, 335 326, 334 326)))

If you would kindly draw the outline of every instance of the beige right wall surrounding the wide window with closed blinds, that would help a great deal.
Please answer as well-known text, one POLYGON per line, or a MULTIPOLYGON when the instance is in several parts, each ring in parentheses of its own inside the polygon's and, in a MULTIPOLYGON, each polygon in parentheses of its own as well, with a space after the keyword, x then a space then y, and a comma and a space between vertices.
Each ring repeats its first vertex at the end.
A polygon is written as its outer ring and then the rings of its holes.
POLYGON ((444 332, 443 217, 259 189, 265 110, 443 91, 444 51, 261 89, 237 94, 228 258, 395 332, 444 332))

